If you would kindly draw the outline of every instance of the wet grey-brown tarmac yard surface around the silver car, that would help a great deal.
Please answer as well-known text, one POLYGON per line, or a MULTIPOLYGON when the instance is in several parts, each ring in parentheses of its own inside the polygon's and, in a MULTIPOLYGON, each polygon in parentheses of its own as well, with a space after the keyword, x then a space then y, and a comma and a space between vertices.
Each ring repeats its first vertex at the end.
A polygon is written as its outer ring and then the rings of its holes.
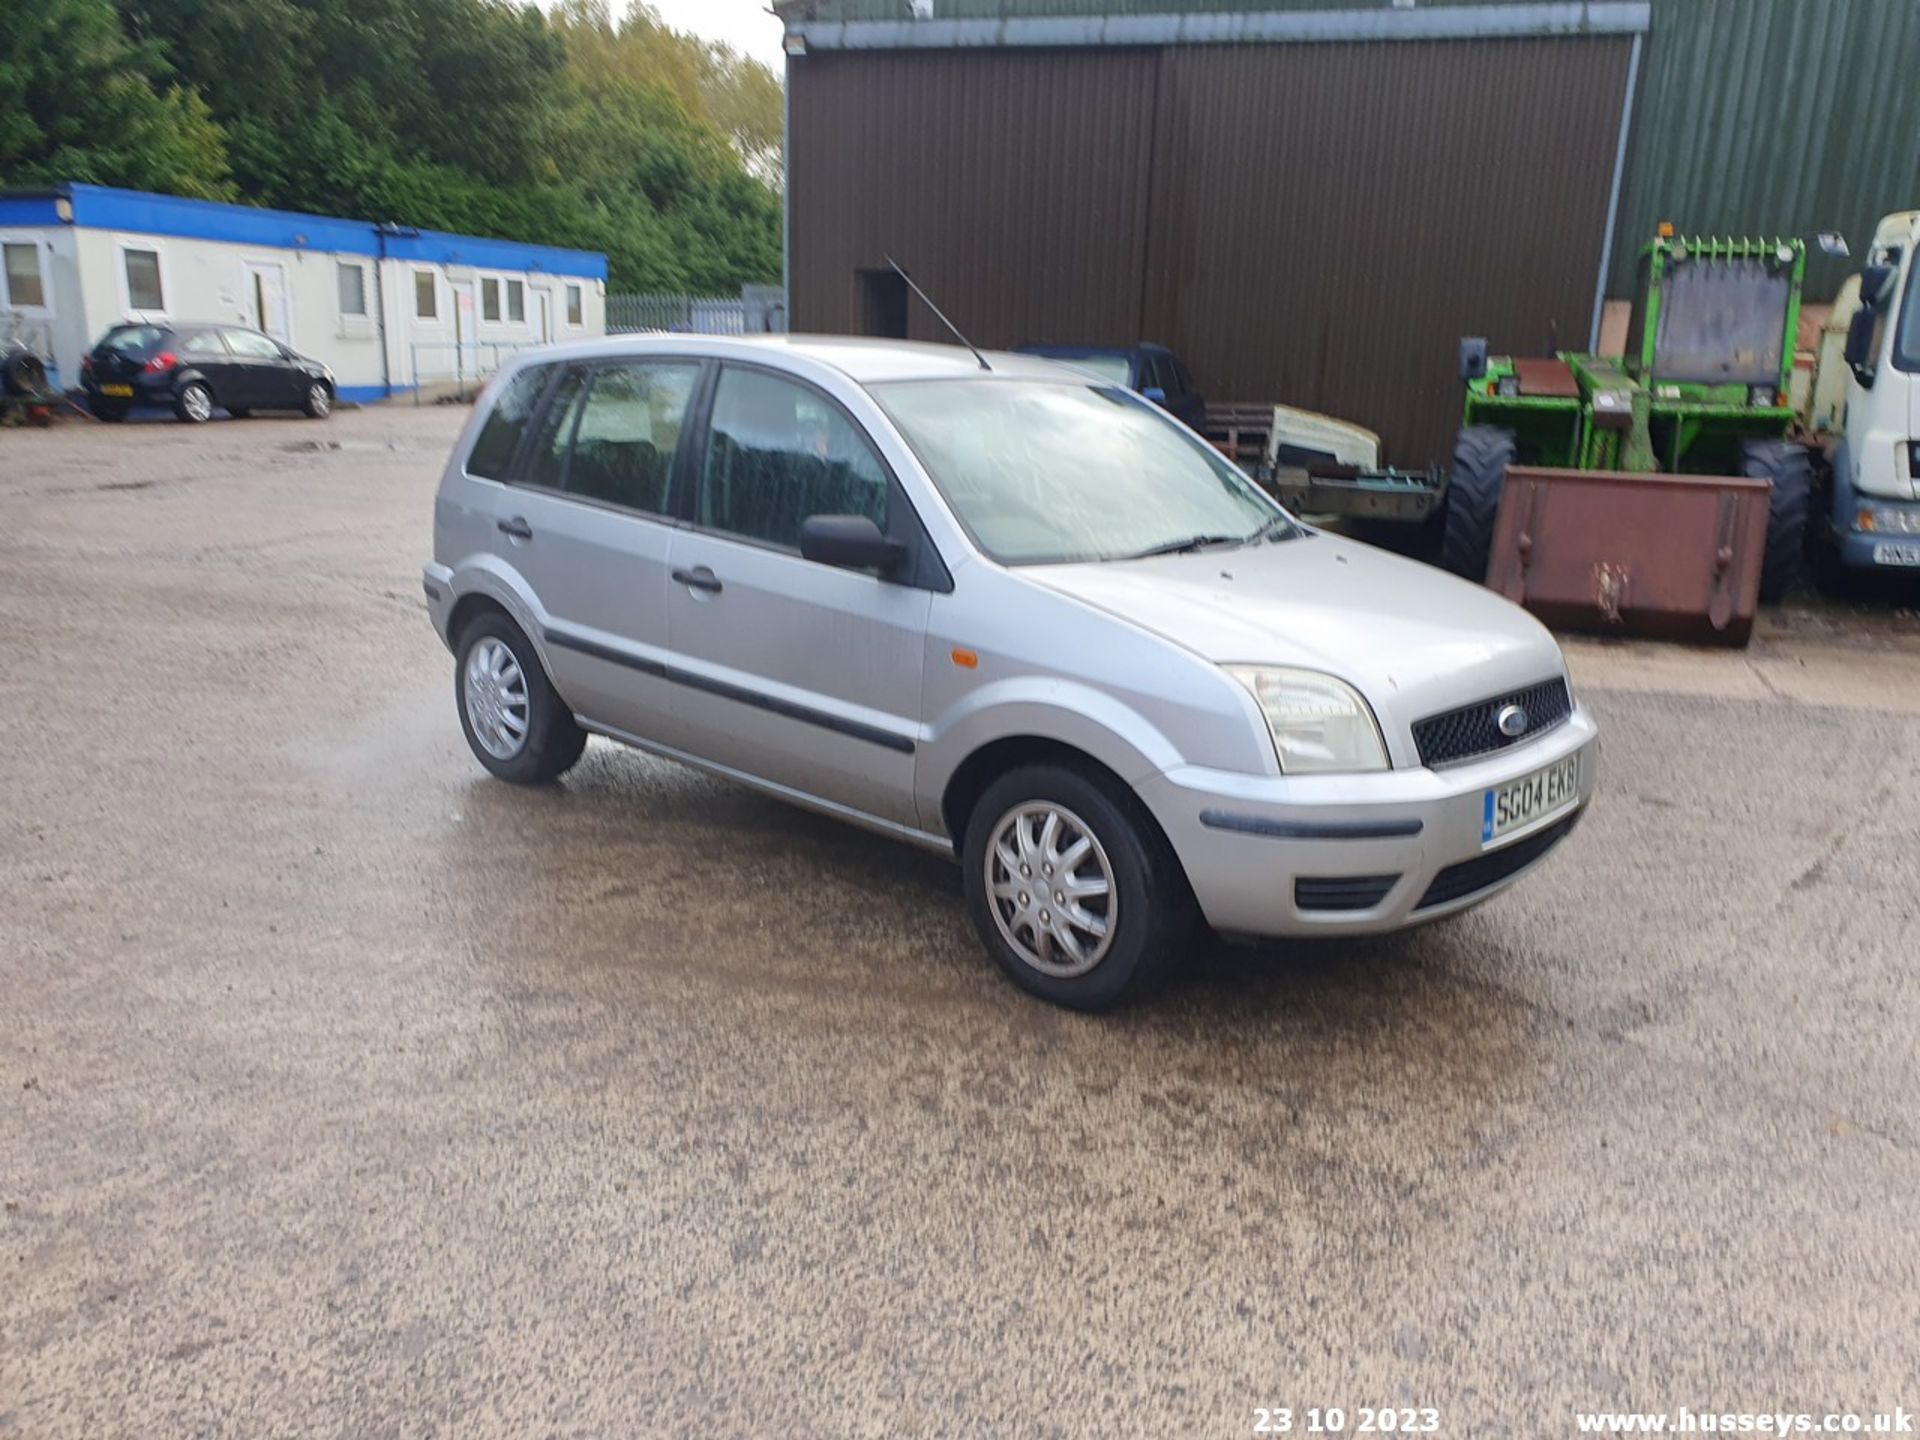
POLYGON ((490 780, 463 415, 0 432, 0 1436, 1920 1409, 1910 611, 1571 641, 1542 872, 1083 1018, 935 856, 490 780))

